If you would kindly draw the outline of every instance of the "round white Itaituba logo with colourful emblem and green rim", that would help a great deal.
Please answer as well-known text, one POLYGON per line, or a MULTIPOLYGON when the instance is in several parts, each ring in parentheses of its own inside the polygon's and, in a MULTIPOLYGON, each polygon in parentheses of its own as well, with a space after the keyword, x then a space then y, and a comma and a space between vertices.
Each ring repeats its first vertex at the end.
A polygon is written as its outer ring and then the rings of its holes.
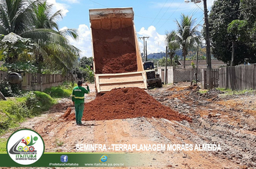
POLYGON ((14 132, 9 137, 6 147, 10 158, 22 165, 35 163, 41 158, 45 150, 42 137, 29 129, 14 132))

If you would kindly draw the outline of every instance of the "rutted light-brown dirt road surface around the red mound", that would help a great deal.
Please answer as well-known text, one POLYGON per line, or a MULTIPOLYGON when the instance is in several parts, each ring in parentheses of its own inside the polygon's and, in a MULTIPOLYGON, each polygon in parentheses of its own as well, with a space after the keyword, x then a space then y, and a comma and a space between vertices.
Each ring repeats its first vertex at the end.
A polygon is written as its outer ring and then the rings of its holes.
MULTIPOLYGON (((93 89, 93 84, 90 85, 93 89)), ((76 121, 61 117, 73 104, 68 99, 46 114, 27 120, 20 128, 37 131, 45 141, 45 152, 76 152, 76 144, 219 144, 220 151, 151 151, 146 168, 256 168, 255 93, 224 95, 218 90, 206 94, 198 87, 167 86, 147 90, 163 105, 192 122, 155 117, 123 120, 76 121)), ((95 90, 86 102, 95 98, 95 90)), ((9 137, 11 133, 4 135, 9 137)), ((109 151, 108 151, 109 152, 109 151)), ((143 152, 140 152, 143 153, 143 152)))

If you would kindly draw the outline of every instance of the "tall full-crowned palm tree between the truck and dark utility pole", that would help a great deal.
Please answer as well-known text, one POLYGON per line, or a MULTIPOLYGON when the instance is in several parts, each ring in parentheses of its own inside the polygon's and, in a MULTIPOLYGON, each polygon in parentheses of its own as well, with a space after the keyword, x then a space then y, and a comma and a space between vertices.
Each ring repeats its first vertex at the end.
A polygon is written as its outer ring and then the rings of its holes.
POLYGON ((188 54, 188 49, 193 47, 196 39, 200 34, 200 32, 197 30, 198 24, 193 26, 194 21, 195 19, 192 19, 192 16, 185 16, 184 14, 181 14, 180 22, 176 19, 178 30, 176 30, 175 33, 171 32, 166 37, 166 40, 169 44, 180 44, 184 59, 183 68, 186 67, 186 55, 188 54))

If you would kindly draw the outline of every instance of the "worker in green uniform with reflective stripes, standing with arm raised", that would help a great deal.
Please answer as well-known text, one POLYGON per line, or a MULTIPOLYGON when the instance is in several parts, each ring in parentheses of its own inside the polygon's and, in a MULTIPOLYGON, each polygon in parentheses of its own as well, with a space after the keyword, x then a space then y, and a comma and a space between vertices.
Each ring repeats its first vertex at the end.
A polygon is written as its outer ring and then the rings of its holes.
POLYGON ((90 92, 88 84, 86 84, 86 88, 82 87, 83 82, 81 80, 78 81, 78 86, 73 89, 72 92, 72 102, 75 105, 76 110, 76 125, 82 124, 83 117, 83 109, 84 109, 84 94, 88 94, 90 92))

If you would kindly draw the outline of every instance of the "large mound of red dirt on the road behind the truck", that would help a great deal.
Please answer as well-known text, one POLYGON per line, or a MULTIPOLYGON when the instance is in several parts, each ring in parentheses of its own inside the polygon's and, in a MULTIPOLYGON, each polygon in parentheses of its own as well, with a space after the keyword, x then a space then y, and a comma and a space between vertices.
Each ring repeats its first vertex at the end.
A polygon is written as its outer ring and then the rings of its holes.
MULTIPOLYGON (((157 117, 168 120, 187 120, 191 118, 180 115, 170 107, 157 102, 147 92, 138 87, 114 89, 101 97, 85 104, 82 120, 113 120, 134 117, 157 117)), ((66 120, 75 120, 74 114, 66 120)))

